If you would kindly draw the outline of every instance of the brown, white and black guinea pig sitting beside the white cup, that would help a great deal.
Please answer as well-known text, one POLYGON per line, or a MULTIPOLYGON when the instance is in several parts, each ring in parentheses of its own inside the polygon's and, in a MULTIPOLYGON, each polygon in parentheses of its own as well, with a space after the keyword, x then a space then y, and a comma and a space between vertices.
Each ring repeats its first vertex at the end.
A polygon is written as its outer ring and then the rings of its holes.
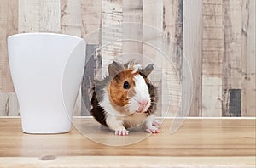
POLYGON ((158 133, 154 121, 156 87, 148 80, 154 64, 143 69, 141 64, 113 61, 108 76, 96 81, 91 98, 90 114, 115 135, 128 135, 128 128, 142 126, 148 133, 158 133))

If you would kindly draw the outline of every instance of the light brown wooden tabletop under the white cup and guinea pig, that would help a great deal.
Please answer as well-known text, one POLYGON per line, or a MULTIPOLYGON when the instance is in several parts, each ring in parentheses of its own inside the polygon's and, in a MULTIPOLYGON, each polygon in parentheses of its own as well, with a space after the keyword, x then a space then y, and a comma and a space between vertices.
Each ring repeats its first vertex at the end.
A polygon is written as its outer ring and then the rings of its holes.
POLYGON ((170 134, 171 123, 172 119, 164 120, 156 135, 136 129, 119 137, 93 119, 79 118, 74 120, 72 132, 31 135, 21 132, 20 118, 0 118, 0 167, 15 164, 255 167, 255 119, 186 119, 174 134, 170 134))

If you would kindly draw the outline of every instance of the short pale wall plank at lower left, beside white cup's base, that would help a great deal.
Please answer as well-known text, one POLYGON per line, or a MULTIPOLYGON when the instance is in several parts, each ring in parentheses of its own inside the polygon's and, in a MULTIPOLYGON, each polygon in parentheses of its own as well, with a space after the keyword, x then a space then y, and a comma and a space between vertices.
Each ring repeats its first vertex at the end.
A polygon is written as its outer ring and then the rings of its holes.
POLYGON ((15 92, 0 92, 0 116, 19 116, 20 108, 15 92))

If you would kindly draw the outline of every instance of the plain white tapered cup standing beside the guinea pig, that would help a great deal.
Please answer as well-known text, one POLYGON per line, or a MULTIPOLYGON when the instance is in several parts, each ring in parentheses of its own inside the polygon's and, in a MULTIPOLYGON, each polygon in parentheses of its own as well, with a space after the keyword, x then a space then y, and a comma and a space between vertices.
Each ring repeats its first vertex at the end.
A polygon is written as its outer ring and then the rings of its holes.
POLYGON ((23 132, 70 132, 85 45, 82 38, 55 33, 9 36, 9 65, 23 132))

